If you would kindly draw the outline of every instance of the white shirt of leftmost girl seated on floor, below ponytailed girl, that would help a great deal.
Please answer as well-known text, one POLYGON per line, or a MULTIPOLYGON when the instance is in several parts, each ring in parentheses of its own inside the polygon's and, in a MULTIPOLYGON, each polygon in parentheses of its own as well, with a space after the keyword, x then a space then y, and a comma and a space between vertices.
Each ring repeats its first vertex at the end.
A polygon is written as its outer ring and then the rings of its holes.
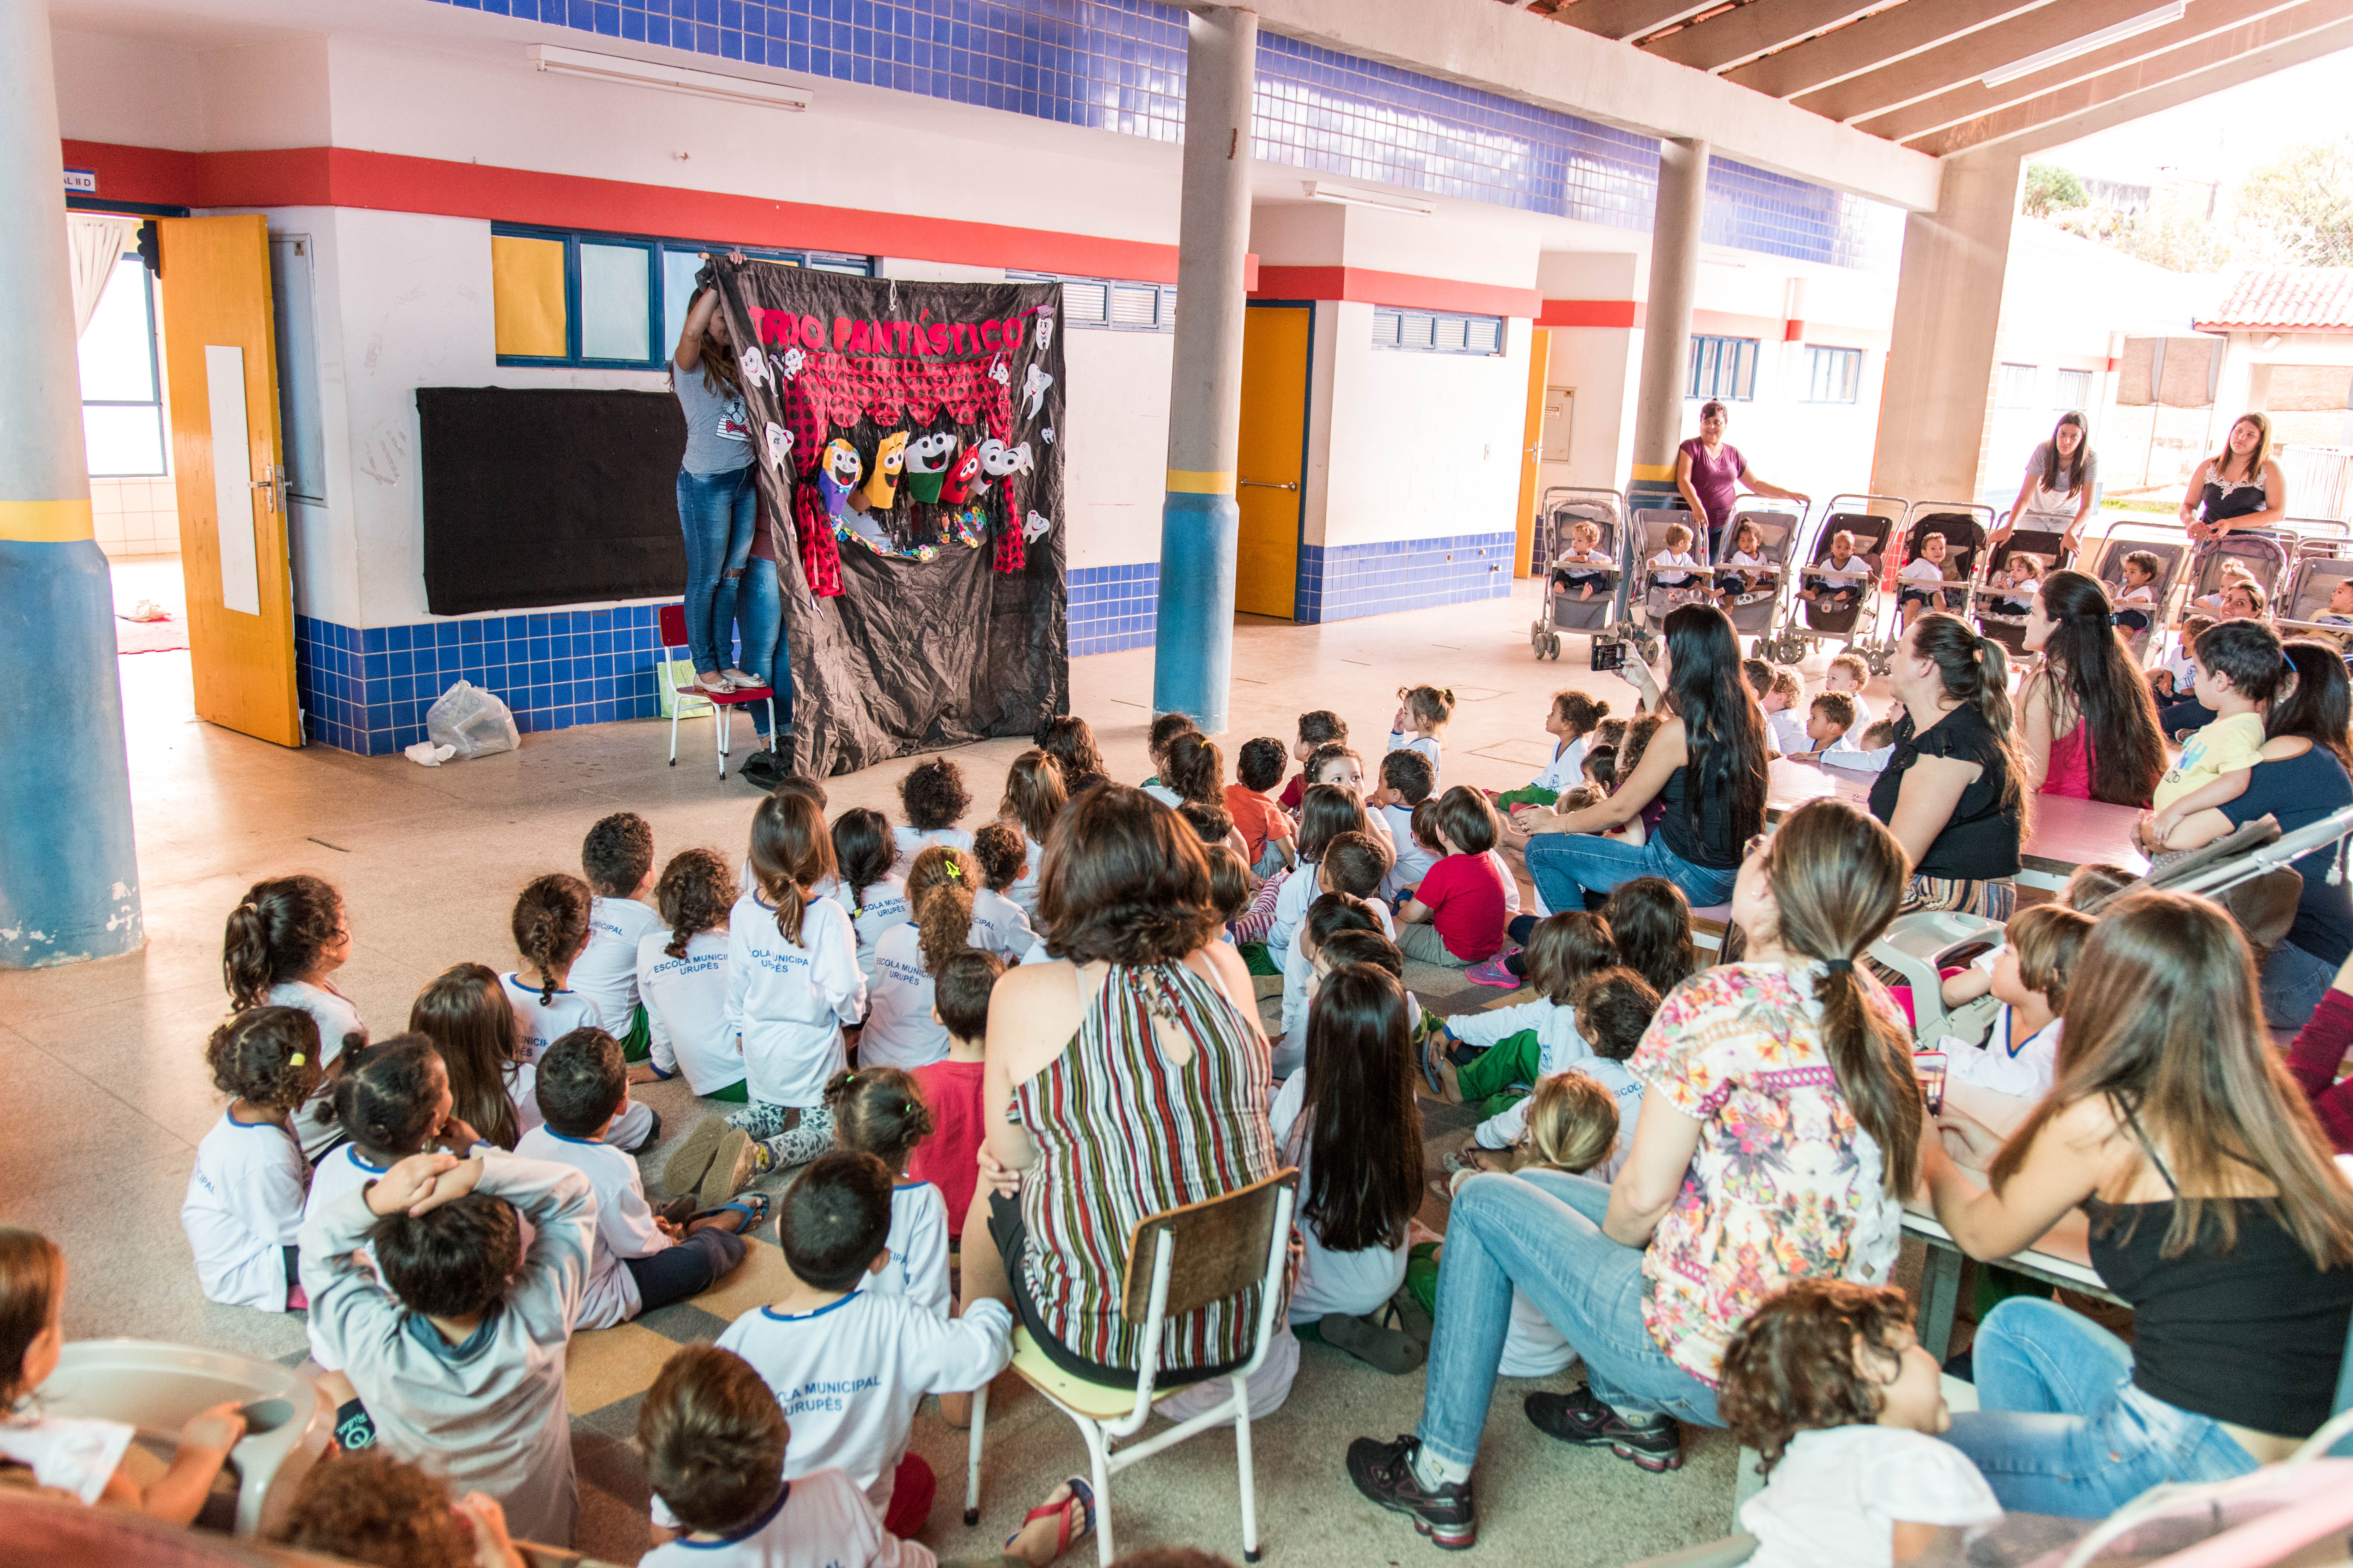
POLYGON ((287 1309, 287 1255, 301 1234, 311 1166, 301 1145, 275 1121, 238 1121, 221 1112, 195 1145, 179 1227, 195 1253, 205 1300, 224 1307, 287 1309))

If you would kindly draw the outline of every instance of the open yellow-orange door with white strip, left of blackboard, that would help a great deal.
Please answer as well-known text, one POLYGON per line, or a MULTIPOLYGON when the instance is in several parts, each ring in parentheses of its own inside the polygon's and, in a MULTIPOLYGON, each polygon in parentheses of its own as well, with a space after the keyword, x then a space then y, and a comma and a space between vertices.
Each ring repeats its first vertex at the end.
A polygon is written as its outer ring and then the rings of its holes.
POLYGON ((268 223, 158 221, 195 715, 301 745, 268 223))

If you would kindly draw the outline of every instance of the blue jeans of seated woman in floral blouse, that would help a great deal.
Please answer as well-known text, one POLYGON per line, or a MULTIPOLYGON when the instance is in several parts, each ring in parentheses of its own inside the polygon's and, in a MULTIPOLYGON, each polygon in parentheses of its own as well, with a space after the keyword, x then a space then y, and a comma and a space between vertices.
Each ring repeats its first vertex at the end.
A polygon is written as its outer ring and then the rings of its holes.
POLYGON ((1642 1248, 1602 1234, 1609 1187, 1588 1175, 1473 1175, 1454 1194, 1438 1255, 1428 1385, 1414 1436, 1454 1465, 1478 1462, 1511 1291, 1586 1359, 1586 1387, 1619 1415, 1722 1427, 1715 1389, 1675 1366, 1642 1324, 1642 1248))

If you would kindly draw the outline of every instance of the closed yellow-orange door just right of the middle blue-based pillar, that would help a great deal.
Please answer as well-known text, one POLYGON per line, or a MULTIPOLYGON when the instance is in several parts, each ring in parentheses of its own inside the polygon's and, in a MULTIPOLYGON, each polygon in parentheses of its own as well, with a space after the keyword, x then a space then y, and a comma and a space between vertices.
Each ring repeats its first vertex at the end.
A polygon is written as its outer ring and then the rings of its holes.
POLYGON ((1313 306, 1252 306, 1242 315, 1242 444, 1233 489, 1242 534, 1233 607, 1285 621, 1299 614, 1313 324, 1313 306))

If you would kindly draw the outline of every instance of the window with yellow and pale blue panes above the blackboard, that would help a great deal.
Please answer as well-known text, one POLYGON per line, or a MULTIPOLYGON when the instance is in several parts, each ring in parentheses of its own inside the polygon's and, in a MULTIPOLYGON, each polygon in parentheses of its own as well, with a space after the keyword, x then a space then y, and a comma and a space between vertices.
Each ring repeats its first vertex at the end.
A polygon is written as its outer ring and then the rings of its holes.
MULTIPOLYGON (((492 322, 499 364, 661 369, 687 327, 706 240, 489 226, 492 322)), ((871 256, 746 249, 755 261, 873 275, 871 256)))

